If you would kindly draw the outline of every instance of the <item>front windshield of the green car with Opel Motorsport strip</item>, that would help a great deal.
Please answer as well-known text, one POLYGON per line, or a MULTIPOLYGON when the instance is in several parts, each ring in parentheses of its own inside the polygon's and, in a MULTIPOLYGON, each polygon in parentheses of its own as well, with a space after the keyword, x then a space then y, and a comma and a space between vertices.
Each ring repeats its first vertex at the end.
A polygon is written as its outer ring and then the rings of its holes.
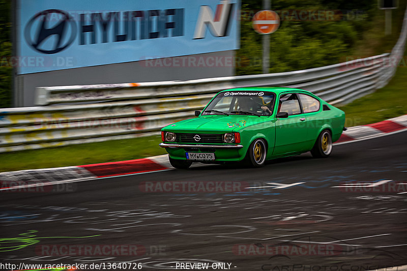
POLYGON ((219 93, 202 115, 258 115, 273 113, 275 94, 272 92, 231 91, 219 93))

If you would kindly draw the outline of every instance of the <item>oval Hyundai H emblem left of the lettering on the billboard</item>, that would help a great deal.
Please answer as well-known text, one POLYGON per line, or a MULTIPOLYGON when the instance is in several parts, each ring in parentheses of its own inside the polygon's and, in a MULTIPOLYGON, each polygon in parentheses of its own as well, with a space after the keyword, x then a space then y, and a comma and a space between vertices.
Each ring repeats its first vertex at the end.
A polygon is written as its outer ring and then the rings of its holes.
POLYGON ((25 26, 25 40, 33 49, 53 54, 66 49, 76 37, 76 23, 69 13, 62 10, 44 10, 34 15, 25 26), (54 14, 56 13, 56 15, 54 14), (57 22, 51 26, 57 16, 57 22), (48 37, 54 37, 48 39, 48 37))

